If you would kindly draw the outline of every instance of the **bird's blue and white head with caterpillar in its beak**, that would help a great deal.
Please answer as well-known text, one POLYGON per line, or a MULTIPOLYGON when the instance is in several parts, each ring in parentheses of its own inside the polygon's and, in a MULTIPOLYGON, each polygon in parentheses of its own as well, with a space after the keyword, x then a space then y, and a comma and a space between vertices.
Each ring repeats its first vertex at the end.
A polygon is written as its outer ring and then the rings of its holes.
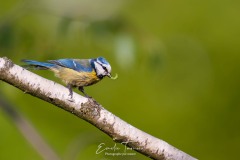
POLYGON ((105 76, 108 76, 111 79, 116 79, 117 77, 111 76, 112 68, 108 61, 103 57, 98 57, 97 59, 93 59, 95 71, 97 73, 97 76, 102 79, 105 76))

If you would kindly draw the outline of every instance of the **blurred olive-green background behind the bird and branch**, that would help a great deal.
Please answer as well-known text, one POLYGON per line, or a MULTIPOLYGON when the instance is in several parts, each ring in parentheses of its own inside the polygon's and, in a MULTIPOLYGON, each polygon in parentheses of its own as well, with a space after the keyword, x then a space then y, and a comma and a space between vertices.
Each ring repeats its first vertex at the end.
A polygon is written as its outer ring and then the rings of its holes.
MULTIPOLYGON (((237 159, 239 16, 237 0, 2 1, 0 56, 103 56, 119 78, 85 90, 107 110, 198 159, 237 159)), ((4 82, 0 92, 61 159, 149 159, 96 154, 115 144, 103 132, 4 82)), ((0 159, 42 159, 2 110, 0 130, 0 159)))

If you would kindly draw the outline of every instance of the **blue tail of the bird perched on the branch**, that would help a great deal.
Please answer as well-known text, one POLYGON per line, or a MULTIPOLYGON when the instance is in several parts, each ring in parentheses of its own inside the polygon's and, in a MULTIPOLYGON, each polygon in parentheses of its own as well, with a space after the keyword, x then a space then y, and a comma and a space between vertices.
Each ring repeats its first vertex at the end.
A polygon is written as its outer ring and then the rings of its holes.
POLYGON ((27 64, 27 65, 24 65, 23 67, 30 68, 30 69, 51 69, 56 67, 56 65, 52 63, 38 62, 34 60, 23 59, 22 62, 27 64))

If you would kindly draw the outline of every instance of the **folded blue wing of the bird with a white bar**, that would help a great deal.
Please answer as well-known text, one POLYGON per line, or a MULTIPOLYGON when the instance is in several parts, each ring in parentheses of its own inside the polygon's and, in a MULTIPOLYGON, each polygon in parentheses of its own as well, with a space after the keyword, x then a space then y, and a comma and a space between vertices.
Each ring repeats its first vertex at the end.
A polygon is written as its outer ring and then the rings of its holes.
POLYGON ((70 68, 78 72, 91 72, 93 70, 89 59, 58 59, 49 60, 48 62, 58 66, 70 68))

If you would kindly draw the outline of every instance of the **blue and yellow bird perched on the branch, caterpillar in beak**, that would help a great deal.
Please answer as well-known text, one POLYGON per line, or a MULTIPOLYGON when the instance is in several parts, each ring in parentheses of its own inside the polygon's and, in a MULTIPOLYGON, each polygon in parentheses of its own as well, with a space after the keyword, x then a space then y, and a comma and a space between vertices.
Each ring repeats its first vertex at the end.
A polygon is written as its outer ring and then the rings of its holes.
POLYGON ((72 99, 72 88, 77 87, 87 98, 91 98, 84 91, 84 87, 93 85, 101 81, 104 77, 117 79, 111 75, 111 65, 104 57, 91 59, 57 59, 40 62, 35 60, 23 59, 26 63, 25 68, 51 70, 55 76, 60 78, 69 90, 69 96, 72 99))

